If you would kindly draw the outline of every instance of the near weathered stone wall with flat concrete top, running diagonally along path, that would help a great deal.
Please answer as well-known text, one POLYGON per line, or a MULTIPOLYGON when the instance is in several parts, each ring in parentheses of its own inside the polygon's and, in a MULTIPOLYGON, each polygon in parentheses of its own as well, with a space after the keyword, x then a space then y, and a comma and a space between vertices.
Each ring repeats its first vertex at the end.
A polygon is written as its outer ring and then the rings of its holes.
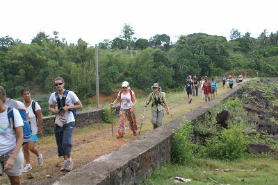
MULTIPOLYGON (((222 99, 235 94, 240 87, 235 87, 223 94, 222 99)), ((150 177, 154 170, 170 161, 173 130, 179 128, 183 117, 186 116, 187 120, 194 121, 199 116, 203 116, 208 108, 217 105, 219 100, 220 97, 215 98, 194 111, 139 136, 135 141, 102 155, 81 168, 72 170, 55 184, 138 184, 140 180, 150 177)))

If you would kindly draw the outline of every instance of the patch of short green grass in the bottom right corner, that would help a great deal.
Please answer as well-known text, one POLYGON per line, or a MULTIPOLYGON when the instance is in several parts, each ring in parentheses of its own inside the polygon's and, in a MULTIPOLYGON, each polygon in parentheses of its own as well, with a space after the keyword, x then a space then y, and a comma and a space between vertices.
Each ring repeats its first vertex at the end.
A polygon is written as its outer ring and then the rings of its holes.
POLYGON ((274 157, 252 155, 234 161, 213 159, 193 159, 189 164, 179 166, 167 164, 149 179, 140 184, 177 184, 171 177, 192 179, 186 184, 215 184, 208 177, 220 184, 278 184, 278 161, 274 157), (216 169, 253 170, 256 172, 221 172, 216 169))

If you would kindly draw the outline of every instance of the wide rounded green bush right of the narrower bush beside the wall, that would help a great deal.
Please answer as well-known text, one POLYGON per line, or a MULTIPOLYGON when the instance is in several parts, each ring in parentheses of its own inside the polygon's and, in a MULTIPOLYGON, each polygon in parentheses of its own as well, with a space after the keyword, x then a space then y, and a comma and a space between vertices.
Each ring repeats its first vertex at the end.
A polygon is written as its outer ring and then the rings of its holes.
POLYGON ((206 154, 213 159, 237 159, 246 150, 247 142, 242 127, 233 125, 229 129, 222 129, 219 134, 215 134, 211 139, 207 139, 206 154))

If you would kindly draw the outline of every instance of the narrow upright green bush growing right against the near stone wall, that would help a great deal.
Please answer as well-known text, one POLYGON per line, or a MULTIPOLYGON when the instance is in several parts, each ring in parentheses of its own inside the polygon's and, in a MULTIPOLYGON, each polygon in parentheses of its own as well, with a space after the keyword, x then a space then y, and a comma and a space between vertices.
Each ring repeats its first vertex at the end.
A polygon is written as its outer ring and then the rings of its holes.
POLYGON ((192 122, 184 120, 173 135, 172 161, 176 164, 186 164, 192 159, 195 148, 192 122))

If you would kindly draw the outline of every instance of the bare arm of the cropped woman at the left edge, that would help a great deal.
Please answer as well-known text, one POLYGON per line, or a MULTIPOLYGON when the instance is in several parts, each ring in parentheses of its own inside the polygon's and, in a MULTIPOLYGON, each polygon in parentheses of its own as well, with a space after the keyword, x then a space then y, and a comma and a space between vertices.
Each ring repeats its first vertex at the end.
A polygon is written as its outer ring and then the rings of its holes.
POLYGON ((15 136, 17 138, 17 143, 15 145, 15 149, 13 150, 13 154, 6 161, 6 164, 3 168, 3 171, 9 170, 13 168, 13 164, 15 164, 15 158, 17 158, 18 152, 22 147, 23 143, 23 127, 15 127, 15 136))

